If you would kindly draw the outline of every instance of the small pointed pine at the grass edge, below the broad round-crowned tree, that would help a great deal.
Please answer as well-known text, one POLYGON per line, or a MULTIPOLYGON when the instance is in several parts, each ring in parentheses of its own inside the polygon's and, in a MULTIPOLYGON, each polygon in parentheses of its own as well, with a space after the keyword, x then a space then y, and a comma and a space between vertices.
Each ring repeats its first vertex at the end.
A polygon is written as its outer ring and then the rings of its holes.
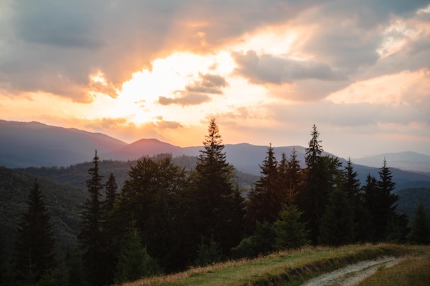
MULTIPOLYGON (((132 223, 133 225, 133 223, 132 223)), ((159 273, 157 262, 150 257, 146 247, 142 246, 139 231, 131 227, 122 242, 119 260, 115 270, 115 283, 135 281, 139 278, 159 273)))

